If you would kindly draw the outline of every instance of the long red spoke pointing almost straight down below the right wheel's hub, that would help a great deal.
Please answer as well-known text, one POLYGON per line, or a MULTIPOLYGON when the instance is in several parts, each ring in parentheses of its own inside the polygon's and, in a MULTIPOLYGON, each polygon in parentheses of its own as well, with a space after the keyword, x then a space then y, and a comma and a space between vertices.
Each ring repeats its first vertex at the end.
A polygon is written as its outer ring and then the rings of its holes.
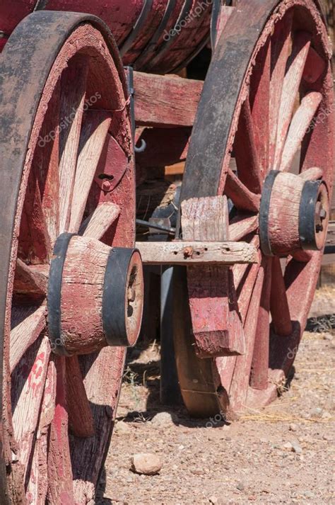
POLYGON ((261 303, 258 313, 257 332, 254 341, 250 374, 250 385, 257 390, 265 390, 268 386, 271 263, 271 258, 264 258, 264 283, 261 290, 261 303))

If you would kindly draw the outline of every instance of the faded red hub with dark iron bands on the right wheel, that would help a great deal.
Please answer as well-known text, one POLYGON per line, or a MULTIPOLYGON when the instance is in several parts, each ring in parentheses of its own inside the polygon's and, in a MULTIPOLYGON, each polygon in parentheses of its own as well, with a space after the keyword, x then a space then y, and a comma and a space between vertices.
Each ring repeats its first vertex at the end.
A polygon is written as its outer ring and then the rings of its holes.
POLYGON ((329 196, 323 181, 273 170, 264 181, 259 210, 261 250, 267 256, 320 251, 327 237, 329 196))

